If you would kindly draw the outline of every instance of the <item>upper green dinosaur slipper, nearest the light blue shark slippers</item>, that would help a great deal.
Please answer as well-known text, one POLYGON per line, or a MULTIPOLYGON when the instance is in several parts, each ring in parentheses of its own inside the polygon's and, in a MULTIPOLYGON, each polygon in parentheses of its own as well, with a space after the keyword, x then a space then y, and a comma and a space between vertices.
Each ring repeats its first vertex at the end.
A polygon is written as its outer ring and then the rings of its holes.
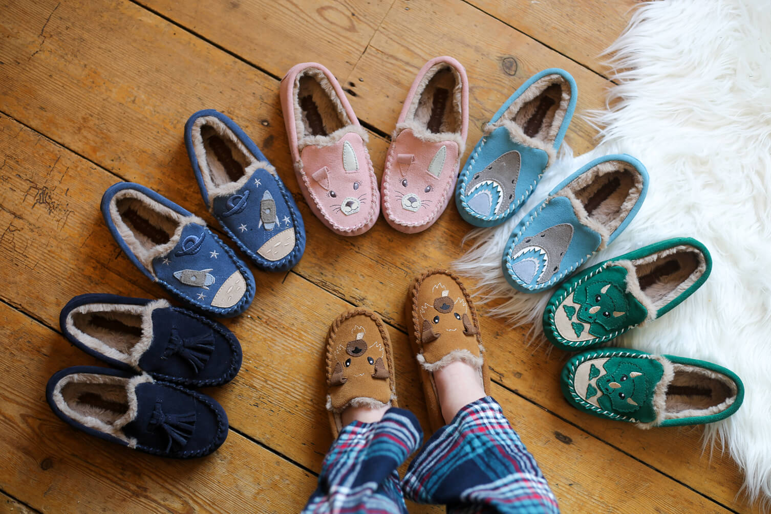
POLYGON ((554 292, 544 311, 544 335, 567 351, 610 341, 672 311, 704 284, 710 270, 709 251, 689 237, 606 260, 554 292))

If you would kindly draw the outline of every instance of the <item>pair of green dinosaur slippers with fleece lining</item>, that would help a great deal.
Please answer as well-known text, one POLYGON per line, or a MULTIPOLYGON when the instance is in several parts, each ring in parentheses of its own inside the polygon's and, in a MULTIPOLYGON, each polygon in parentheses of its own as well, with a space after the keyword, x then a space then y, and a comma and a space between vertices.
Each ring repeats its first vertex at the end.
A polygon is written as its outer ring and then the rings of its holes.
POLYGON ((722 366, 626 348, 588 350, 671 311, 710 270, 703 244, 675 238, 606 260, 562 284, 544 311, 544 334, 557 348, 583 351, 562 371, 567 401, 640 428, 700 425, 736 412, 744 386, 722 366))

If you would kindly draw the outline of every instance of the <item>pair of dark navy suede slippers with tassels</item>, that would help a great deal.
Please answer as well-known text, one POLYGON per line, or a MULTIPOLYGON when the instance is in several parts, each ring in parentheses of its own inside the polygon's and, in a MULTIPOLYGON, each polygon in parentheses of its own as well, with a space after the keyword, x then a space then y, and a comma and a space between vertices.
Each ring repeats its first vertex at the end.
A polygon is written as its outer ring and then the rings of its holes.
POLYGON ((114 368, 57 372, 52 411, 89 435, 179 459, 208 455, 227 437, 227 415, 190 387, 221 385, 241 368, 241 345, 222 324, 165 300, 113 294, 72 298, 59 317, 76 347, 114 368))

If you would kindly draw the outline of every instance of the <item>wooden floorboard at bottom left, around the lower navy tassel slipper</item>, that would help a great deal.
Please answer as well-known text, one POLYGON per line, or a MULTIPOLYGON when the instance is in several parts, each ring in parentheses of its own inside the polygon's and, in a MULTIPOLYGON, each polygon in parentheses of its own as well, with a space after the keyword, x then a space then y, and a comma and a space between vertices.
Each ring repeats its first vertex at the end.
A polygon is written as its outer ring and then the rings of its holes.
POLYGON ((210 458, 189 461, 78 432, 49 409, 45 382, 63 363, 93 359, 5 304, 0 337, 0 488, 35 509, 298 512, 314 489, 313 475, 232 431, 210 458))

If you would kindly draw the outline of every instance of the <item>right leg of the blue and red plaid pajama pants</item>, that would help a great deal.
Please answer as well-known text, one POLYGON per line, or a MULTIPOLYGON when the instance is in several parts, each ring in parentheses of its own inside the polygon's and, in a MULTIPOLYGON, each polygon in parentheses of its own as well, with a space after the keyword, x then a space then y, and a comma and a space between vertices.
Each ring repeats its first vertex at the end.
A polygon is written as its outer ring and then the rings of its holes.
POLYGON ((466 405, 409 465, 407 498, 448 512, 559 512, 557 499, 517 432, 488 396, 466 405))

